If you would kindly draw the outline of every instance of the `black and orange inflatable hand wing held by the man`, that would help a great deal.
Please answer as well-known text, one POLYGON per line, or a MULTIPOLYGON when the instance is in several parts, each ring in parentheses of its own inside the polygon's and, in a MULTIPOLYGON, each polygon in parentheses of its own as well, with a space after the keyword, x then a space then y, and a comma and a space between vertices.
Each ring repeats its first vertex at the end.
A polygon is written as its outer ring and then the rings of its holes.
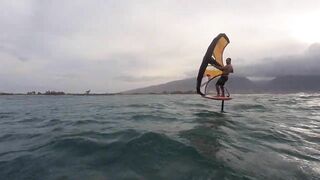
POLYGON ((221 76, 222 71, 215 68, 215 65, 224 66, 223 51, 230 43, 226 34, 220 33, 213 39, 203 57, 197 77, 197 93, 201 96, 207 95, 208 84, 216 77, 221 76))

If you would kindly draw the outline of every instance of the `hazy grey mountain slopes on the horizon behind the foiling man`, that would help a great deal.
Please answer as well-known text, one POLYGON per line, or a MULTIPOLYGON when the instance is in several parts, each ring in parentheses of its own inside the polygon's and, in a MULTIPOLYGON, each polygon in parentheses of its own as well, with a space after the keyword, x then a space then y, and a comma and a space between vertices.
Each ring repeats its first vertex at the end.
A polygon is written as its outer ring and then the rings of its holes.
MULTIPOLYGON (((208 88, 215 91, 214 82, 208 88)), ((230 76, 226 84, 230 93, 294 93, 320 92, 320 75, 279 76, 269 81, 251 81, 246 77, 230 76)), ((122 92, 122 94, 195 93, 196 78, 171 81, 122 92)))

